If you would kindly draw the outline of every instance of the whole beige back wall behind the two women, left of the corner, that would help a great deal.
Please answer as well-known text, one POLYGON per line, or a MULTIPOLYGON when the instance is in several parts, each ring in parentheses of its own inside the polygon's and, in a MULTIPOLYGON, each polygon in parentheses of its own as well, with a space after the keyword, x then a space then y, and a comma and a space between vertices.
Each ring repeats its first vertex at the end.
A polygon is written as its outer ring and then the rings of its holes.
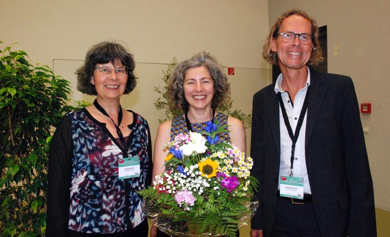
MULTIPOLYGON (((153 87, 161 85, 162 70, 173 57, 187 59, 205 50, 235 67, 229 76, 232 99, 245 113, 252 113, 253 94, 269 84, 269 66, 260 55, 267 0, 0 0, 0 9, 0 47, 19 42, 14 49, 53 66, 74 87, 74 72, 90 46, 102 40, 126 43, 139 79, 121 104, 148 120, 152 140, 158 118, 164 117, 153 105, 158 96, 153 87)), ((76 90, 74 98, 93 100, 76 90)))

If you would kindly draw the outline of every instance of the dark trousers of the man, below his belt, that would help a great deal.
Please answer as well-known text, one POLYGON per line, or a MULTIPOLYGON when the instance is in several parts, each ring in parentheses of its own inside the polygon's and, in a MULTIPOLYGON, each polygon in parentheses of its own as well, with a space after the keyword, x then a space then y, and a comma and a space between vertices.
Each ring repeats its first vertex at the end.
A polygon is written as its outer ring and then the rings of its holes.
POLYGON ((313 203, 293 204, 276 197, 272 237, 320 237, 313 203))

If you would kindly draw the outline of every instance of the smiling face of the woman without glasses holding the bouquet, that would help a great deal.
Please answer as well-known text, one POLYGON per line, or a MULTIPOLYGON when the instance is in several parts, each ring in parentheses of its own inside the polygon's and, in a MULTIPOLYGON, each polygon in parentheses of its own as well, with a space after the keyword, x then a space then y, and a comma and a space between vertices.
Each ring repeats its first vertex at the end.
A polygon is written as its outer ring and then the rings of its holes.
POLYGON ((184 96, 191 109, 210 109, 214 96, 214 80, 205 66, 193 67, 184 76, 184 96))

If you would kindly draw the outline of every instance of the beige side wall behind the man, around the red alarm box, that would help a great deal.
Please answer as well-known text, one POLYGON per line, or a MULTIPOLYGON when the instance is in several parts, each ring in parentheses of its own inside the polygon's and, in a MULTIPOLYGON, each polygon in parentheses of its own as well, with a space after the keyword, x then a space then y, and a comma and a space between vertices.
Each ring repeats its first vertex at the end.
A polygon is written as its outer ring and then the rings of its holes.
POLYGON ((328 27, 328 72, 353 79, 362 115, 377 208, 390 211, 390 1, 269 0, 270 25, 284 11, 300 8, 328 27), (337 57, 335 57, 337 55, 337 57))

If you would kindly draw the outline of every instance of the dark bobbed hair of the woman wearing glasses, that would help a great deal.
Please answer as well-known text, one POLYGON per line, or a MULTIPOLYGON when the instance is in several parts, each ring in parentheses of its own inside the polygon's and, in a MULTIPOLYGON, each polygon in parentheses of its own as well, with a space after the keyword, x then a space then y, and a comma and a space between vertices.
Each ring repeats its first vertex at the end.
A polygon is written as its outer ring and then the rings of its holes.
POLYGON ((88 50, 84 64, 76 70, 77 89, 87 95, 97 95, 95 86, 91 84, 96 64, 111 62, 115 65, 118 61, 127 68, 127 84, 124 94, 129 94, 137 84, 137 78, 133 74, 136 62, 133 55, 121 44, 107 41, 95 44, 88 50))

